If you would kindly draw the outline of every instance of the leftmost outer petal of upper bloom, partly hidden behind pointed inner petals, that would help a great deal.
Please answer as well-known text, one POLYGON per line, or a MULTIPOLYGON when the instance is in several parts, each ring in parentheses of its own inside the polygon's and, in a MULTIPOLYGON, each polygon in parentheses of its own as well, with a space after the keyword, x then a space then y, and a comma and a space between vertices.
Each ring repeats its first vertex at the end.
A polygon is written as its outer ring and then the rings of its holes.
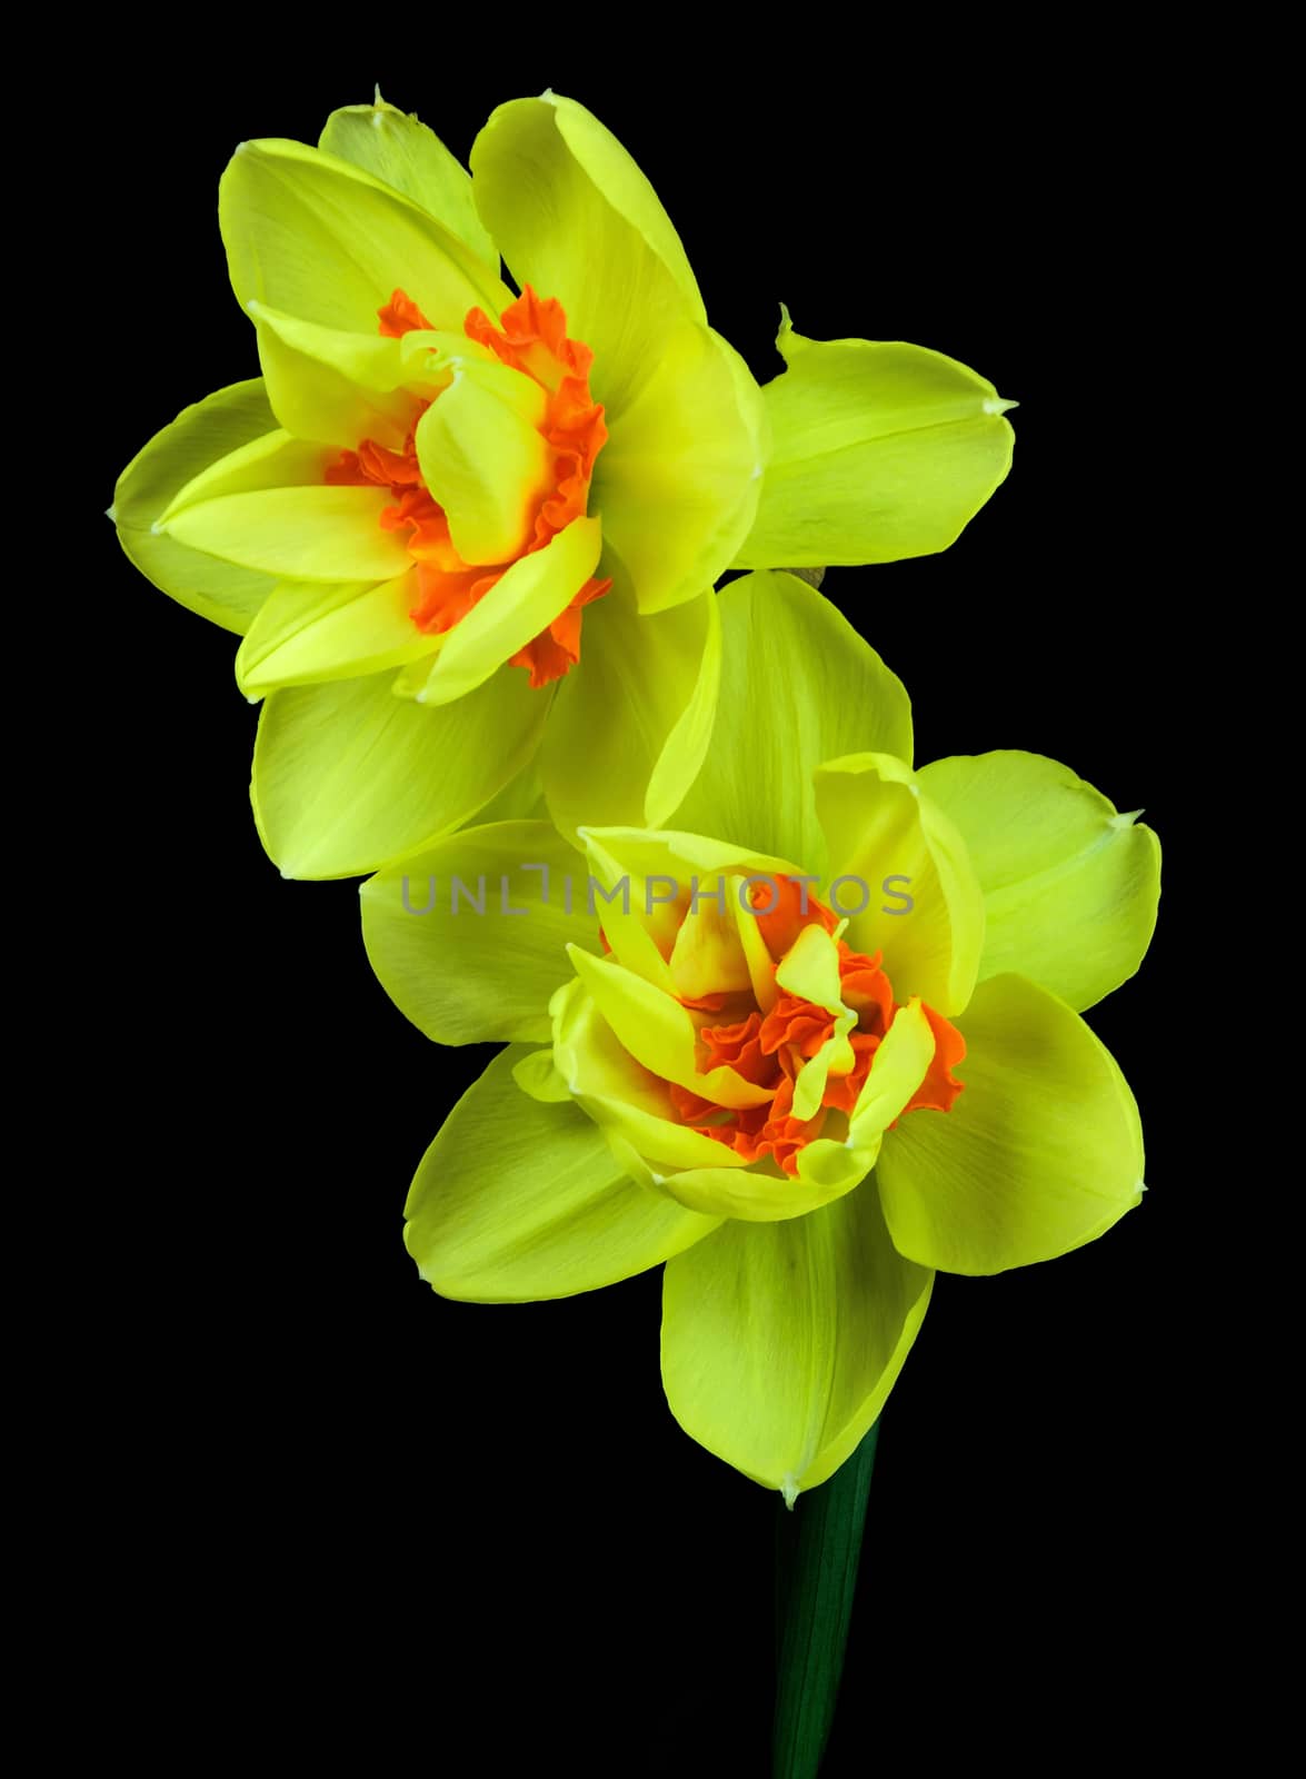
POLYGON ((217 562, 155 525, 178 489, 274 429, 262 381, 237 382, 183 409, 157 432, 123 470, 114 491, 117 539, 141 573, 178 605, 238 635, 272 591, 272 576, 217 562))

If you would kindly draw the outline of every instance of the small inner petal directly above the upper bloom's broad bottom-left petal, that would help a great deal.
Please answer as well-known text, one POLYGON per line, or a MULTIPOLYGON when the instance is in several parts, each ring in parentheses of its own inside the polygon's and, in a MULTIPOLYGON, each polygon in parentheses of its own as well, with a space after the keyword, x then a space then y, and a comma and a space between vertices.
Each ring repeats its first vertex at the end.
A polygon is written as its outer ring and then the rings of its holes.
POLYGON ((283 685, 351 680, 432 653, 409 612, 416 571, 399 580, 333 585, 281 582, 237 651, 237 683, 262 697, 283 685))

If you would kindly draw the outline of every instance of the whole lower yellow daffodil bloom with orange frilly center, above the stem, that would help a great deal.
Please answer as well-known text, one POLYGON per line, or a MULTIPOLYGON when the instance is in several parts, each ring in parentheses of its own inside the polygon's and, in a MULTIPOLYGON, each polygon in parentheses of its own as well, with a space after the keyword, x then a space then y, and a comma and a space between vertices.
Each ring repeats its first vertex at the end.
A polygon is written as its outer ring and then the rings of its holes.
POLYGON ((936 1268, 1050 1260, 1139 1203, 1080 1012, 1137 970, 1160 868, 1039 754, 913 770, 902 685, 794 576, 719 607, 673 829, 582 856, 470 827, 365 884, 363 930, 423 1032, 511 1046, 415 1179, 422 1276, 500 1302, 665 1261, 676 1418, 792 1501, 879 1414, 936 1268))

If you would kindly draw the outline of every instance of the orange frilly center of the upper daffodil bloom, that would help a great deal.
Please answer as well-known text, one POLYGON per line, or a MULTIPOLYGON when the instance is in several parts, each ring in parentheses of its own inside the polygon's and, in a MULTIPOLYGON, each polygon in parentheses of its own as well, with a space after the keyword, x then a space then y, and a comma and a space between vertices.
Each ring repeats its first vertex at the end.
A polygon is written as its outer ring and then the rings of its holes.
MULTIPOLYGON (((402 290, 379 310, 381 333, 399 340, 415 329, 431 329, 422 310, 402 290)), ((553 452, 553 487, 537 502, 530 523, 530 543, 520 555, 543 550, 573 519, 585 516, 594 459, 607 441, 603 409, 589 393, 589 366, 594 354, 580 340, 568 340, 562 304, 541 299, 525 286, 516 302, 500 317, 498 327, 484 310, 472 310, 463 324, 468 340, 488 347, 504 365, 537 382, 548 406, 541 434, 553 452)), ((436 397, 439 400, 439 397, 436 397)), ((439 502, 422 480, 415 431, 427 409, 415 402, 413 425, 404 450, 388 450, 375 439, 361 439, 358 450, 345 450, 326 480, 333 486, 388 487, 395 505, 381 514, 386 530, 407 532, 407 553, 416 564, 416 600, 409 616, 425 635, 443 635, 507 573, 512 562, 473 568, 463 560, 448 535, 448 519, 439 502)), ((520 560, 516 557, 514 560, 520 560)), ((512 667, 525 667, 534 687, 560 680, 580 660, 582 610, 601 598, 610 580, 587 580, 548 630, 541 630, 511 656, 512 667)))

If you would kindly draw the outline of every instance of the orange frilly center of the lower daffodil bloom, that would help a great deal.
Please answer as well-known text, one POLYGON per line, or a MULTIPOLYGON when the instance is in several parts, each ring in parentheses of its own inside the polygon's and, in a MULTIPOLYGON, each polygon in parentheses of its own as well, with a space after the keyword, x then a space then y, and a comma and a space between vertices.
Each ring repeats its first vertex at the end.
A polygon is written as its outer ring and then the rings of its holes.
MULTIPOLYGON (((797 879, 772 879, 767 886, 754 888, 751 898, 758 907, 758 929, 770 954, 772 971, 785 961, 804 927, 815 923, 833 932, 838 925, 838 918, 808 895, 797 879), (772 895, 770 882, 779 886, 778 897, 772 895), (763 904, 774 906, 762 911, 763 904)), ((900 1009, 883 968, 883 954, 868 957, 842 939, 836 945, 843 1005, 858 1014, 858 1023, 849 1032, 854 1067, 849 1075, 829 1076, 815 1115, 794 1117, 794 1083, 802 1064, 834 1035, 834 1016, 786 989, 778 989, 770 1010, 762 1012, 753 993, 746 989, 685 1000, 683 1005, 694 1014, 706 1014, 712 1021, 699 1026, 699 1069, 706 1073, 724 1064, 746 1082, 770 1089, 772 1098, 765 1105, 733 1110, 703 1099, 687 1087, 667 1083, 681 1124, 726 1144, 746 1162, 770 1158, 794 1176, 801 1151, 822 1135, 829 1115, 833 1112, 847 1115, 854 1110, 875 1051, 900 1009)), ((922 1009, 934 1034, 934 1057, 925 1080, 904 1107, 904 1117, 907 1112, 922 1110, 948 1112, 964 1085, 952 1071, 966 1055, 966 1041, 943 1014, 923 1003, 922 1009)))

